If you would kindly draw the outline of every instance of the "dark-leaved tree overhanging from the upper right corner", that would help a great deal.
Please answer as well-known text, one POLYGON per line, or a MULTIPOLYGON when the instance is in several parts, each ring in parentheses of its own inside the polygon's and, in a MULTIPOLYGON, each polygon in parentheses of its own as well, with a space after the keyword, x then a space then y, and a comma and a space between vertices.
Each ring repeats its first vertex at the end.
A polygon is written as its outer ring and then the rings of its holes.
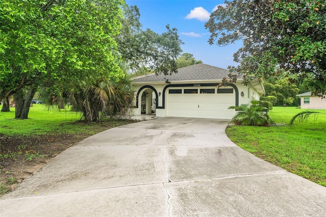
POLYGON ((205 27, 210 44, 242 40, 231 72, 304 80, 315 95, 326 94, 326 8, 324 1, 233 0, 215 10, 205 27))

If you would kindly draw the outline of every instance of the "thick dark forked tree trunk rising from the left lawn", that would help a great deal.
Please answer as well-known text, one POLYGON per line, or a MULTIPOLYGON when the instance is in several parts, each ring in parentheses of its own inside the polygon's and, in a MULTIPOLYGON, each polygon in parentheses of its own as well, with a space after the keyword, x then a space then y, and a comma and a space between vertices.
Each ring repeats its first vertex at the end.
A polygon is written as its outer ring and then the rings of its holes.
MULTIPOLYGON (((19 98, 20 100, 19 106, 17 107, 16 104, 16 113, 15 113, 15 119, 28 119, 28 115, 30 112, 31 102, 34 97, 34 94, 36 92, 37 86, 30 86, 27 94, 24 96, 23 91, 19 93, 19 96, 16 98, 19 98), (18 110, 18 111, 17 111, 18 110)), ((16 99, 15 99, 16 100, 16 99)))

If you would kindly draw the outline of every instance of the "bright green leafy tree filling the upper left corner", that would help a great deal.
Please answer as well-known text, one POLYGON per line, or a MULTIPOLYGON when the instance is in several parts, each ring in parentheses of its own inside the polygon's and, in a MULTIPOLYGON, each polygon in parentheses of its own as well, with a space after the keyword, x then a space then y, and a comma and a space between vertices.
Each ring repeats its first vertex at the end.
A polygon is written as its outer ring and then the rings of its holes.
POLYGON ((26 87, 30 94, 22 103, 29 104, 39 85, 71 86, 103 75, 119 77, 114 37, 121 29, 123 3, 1 1, 0 100, 16 93, 22 96, 26 87))

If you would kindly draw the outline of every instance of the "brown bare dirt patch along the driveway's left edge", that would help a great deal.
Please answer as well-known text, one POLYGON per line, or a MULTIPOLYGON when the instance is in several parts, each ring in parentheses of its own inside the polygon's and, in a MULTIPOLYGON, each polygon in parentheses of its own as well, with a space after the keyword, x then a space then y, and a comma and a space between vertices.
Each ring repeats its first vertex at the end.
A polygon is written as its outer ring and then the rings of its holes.
MULTIPOLYGON (((101 124, 92 129, 95 132, 101 132, 133 122, 128 120, 114 125, 101 124)), ((20 182, 42 168, 53 157, 90 135, 92 134, 76 133, 23 137, 20 135, 7 136, 0 133, 0 197, 15 189, 20 182)))

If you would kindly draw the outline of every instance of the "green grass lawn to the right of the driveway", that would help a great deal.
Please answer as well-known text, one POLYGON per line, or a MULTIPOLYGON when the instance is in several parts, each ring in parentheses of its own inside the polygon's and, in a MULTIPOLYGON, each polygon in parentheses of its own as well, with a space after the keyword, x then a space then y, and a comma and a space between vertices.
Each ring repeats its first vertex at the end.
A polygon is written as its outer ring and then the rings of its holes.
MULTIPOLYGON (((228 137, 239 147, 289 172, 326 186, 326 115, 295 122, 291 118, 305 110, 274 107, 270 118, 285 126, 230 126, 228 137)), ((316 110, 326 113, 325 110, 316 110)))

